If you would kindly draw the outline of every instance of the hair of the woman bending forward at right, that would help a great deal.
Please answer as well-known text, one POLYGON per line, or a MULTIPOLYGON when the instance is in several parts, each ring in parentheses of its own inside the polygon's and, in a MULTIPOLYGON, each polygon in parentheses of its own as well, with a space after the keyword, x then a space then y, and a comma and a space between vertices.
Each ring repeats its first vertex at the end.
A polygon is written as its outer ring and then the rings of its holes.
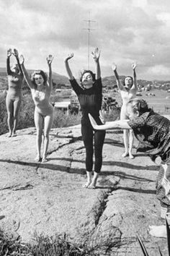
POLYGON ((143 100, 143 98, 133 98, 128 102, 128 105, 131 105, 133 108, 133 113, 136 113, 137 111, 139 114, 143 114, 148 111, 148 103, 143 100))

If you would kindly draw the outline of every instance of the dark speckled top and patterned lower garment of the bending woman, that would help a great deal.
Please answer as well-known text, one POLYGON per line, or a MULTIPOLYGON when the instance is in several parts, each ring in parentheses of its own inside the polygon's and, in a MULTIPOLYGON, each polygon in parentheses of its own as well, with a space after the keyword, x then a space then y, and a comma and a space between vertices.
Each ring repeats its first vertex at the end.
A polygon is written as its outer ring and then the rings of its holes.
POLYGON ((156 182, 156 196, 161 206, 170 208, 170 120, 149 109, 128 121, 139 141, 137 152, 146 153, 153 161, 160 156, 161 166, 156 182))

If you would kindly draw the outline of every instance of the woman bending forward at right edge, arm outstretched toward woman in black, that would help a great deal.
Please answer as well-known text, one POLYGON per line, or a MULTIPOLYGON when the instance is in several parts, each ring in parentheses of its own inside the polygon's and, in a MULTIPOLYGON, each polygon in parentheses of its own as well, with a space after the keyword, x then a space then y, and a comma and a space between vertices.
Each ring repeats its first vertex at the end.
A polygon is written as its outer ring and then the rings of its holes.
MULTIPOLYGON (((161 202, 161 218, 170 221, 170 120, 156 114, 143 99, 127 103, 129 120, 110 121, 97 125, 90 116, 94 129, 133 129, 139 141, 137 151, 148 154, 153 161, 159 156, 161 167, 156 182, 156 197, 161 202), (167 214, 166 214, 167 213, 167 214)), ((150 226, 153 236, 166 236, 166 226, 150 226)))

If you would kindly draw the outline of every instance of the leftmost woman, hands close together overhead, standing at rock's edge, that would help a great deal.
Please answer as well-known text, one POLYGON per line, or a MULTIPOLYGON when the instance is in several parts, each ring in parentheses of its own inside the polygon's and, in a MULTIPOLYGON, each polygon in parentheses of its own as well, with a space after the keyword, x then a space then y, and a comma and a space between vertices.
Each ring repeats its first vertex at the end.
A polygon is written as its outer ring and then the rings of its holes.
POLYGON ((8 127, 9 136, 14 137, 16 135, 17 122, 19 116, 19 108, 22 100, 22 83, 23 83, 23 73, 21 66, 19 64, 19 57, 17 49, 14 49, 14 56, 17 59, 17 64, 14 64, 10 68, 10 57, 12 56, 12 49, 7 51, 6 59, 6 72, 8 75, 9 89, 6 95, 6 109, 8 113, 8 127))

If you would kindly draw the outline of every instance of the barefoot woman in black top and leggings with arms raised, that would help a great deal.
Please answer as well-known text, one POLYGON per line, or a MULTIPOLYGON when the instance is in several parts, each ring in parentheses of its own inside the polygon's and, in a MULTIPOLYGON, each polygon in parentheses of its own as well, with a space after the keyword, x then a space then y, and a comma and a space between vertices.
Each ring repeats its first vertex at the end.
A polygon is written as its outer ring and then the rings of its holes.
POLYGON ((66 71, 71 82, 73 90, 78 95, 79 103, 82 111, 81 118, 81 134, 86 148, 86 175, 87 182, 84 187, 94 189, 97 184, 97 178, 102 168, 102 148, 104 144, 105 131, 95 131, 91 127, 88 113, 94 117, 97 124, 102 124, 100 119, 100 110, 102 106, 102 80, 100 76, 98 48, 91 53, 96 64, 96 75, 91 70, 85 70, 81 75, 81 86, 76 82, 68 65, 68 60, 73 58, 73 54, 68 55, 65 60, 66 71), (93 148, 94 137, 94 148, 93 148), (94 176, 91 177, 93 168, 93 154, 95 155, 94 176))

